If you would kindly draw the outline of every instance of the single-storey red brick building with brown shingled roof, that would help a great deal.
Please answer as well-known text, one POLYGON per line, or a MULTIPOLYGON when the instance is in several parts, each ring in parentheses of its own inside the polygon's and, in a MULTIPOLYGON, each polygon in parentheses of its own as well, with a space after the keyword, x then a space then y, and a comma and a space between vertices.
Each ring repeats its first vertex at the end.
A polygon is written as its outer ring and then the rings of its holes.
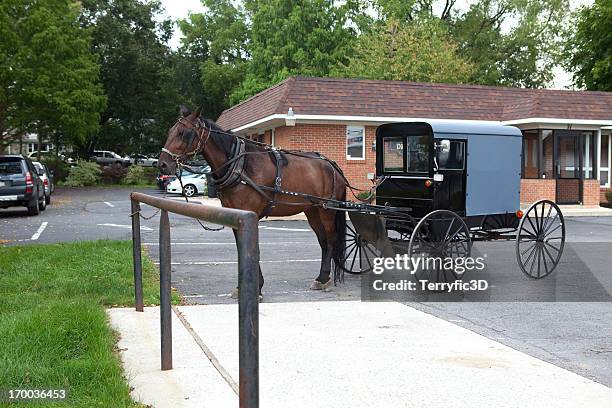
POLYGON ((377 126, 420 119, 521 129, 523 202, 598 205, 611 190, 608 92, 292 77, 225 110, 217 122, 275 146, 321 152, 356 187, 368 187, 377 126))

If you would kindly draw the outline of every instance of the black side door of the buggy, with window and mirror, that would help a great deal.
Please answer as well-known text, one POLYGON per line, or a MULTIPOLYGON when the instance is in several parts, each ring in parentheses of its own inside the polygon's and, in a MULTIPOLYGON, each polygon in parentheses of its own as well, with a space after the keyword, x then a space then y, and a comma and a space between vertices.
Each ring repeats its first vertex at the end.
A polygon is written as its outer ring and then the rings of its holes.
MULTIPOLYGON (((436 142, 440 142, 437 140, 436 142)), ((434 206, 465 214, 465 140, 444 139, 447 149, 436 149, 434 206)))

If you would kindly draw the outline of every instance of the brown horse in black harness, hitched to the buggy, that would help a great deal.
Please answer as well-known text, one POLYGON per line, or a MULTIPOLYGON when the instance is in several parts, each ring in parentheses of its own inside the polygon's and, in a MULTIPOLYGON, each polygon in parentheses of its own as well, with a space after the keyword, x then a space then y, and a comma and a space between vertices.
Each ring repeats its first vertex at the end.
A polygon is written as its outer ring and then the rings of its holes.
MULTIPOLYGON (((324 209, 321 200, 346 199, 348 183, 334 162, 318 153, 276 150, 244 140, 200 117, 199 111, 181 107, 159 156, 159 169, 175 174, 178 163, 197 153, 210 165, 224 207, 253 211, 260 219, 306 214, 322 251, 319 276, 311 289, 331 286, 332 260, 334 282, 340 279, 346 218, 344 212, 324 209)), ((259 279, 261 291, 261 267, 259 279)))

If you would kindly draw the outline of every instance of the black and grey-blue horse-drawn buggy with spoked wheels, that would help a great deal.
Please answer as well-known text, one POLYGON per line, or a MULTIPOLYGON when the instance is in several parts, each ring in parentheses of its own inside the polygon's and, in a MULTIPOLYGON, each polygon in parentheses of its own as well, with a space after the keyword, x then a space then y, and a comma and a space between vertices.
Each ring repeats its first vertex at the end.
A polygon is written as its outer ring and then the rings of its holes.
MULTIPOLYGON (((373 258, 396 254, 469 257, 474 241, 515 240, 521 270, 534 279, 553 272, 563 253, 559 207, 520 208, 522 134, 494 123, 390 123, 376 133, 376 204, 328 201, 347 211, 348 273, 369 272, 373 258)), ((453 268, 417 271, 418 280, 454 282, 453 268)))

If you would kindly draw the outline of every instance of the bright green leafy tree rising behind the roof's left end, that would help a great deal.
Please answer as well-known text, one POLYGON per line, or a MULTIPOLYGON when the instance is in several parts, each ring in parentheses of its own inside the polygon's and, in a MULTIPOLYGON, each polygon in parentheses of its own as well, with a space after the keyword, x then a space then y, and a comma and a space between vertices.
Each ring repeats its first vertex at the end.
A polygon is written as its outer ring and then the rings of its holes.
POLYGON ((356 34, 348 18, 358 2, 333 0, 246 0, 251 21, 249 62, 239 102, 290 75, 328 76, 346 63, 356 34))

